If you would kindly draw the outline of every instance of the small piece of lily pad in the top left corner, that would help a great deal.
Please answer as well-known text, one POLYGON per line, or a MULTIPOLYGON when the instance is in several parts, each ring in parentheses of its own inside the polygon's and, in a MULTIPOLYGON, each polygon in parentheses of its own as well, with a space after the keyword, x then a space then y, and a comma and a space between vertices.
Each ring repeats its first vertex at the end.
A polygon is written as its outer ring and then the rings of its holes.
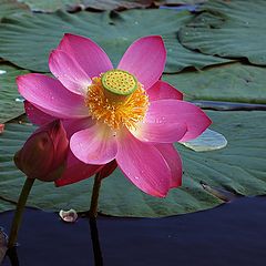
POLYGON ((25 12, 30 12, 30 9, 23 3, 18 3, 16 0, 0 0, 0 21, 3 17, 25 12))

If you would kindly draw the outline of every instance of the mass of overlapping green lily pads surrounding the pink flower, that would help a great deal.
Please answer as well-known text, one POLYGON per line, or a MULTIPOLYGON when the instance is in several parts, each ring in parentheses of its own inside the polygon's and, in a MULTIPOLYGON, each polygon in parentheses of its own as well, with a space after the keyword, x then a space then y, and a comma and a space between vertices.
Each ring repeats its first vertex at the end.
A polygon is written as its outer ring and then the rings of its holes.
MULTIPOLYGON (((161 34, 167 49, 163 80, 183 91, 186 100, 206 101, 209 106, 218 103, 226 110, 235 102, 245 104, 241 105, 243 111, 206 111, 213 120, 212 129, 227 139, 225 149, 197 153, 176 144, 184 164, 181 188, 172 190, 166 198, 154 198, 134 187, 117 170, 103 182, 101 213, 157 217, 223 203, 201 182, 239 195, 266 194, 266 113, 258 111, 266 106, 266 28, 262 11, 266 10, 266 2, 209 0, 193 13, 157 9, 164 3, 198 1, 106 4, 89 0, 0 0, 0 123, 6 124, 0 133, 1 212, 16 206, 24 176, 16 168, 12 156, 34 130, 18 119, 23 114, 23 103, 16 76, 49 73, 49 52, 65 32, 92 38, 114 65, 132 41, 161 34), (254 111, 244 111, 246 104, 252 104, 248 106, 254 111)), ((37 182, 28 205, 86 211, 91 187, 92 178, 61 188, 37 182)))

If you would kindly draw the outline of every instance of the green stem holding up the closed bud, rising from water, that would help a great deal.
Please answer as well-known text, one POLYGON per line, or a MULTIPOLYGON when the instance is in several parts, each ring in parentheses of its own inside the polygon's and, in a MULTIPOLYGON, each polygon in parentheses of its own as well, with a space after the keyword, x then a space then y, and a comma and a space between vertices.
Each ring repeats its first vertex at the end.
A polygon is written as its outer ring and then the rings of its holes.
POLYGON ((30 194, 30 191, 31 191, 31 187, 32 187, 33 183, 34 183, 34 178, 27 178, 25 182, 24 182, 23 188, 20 193, 19 202, 17 204, 17 209, 16 209, 16 213, 14 213, 12 226, 11 226, 10 234, 9 234, 8 248, 13 247, 16 242, 17 242, 18 232, 19 232, 19 227, 20 227, 20 224, 21 224, 25 202, 27 202, 27 198, 30 194))

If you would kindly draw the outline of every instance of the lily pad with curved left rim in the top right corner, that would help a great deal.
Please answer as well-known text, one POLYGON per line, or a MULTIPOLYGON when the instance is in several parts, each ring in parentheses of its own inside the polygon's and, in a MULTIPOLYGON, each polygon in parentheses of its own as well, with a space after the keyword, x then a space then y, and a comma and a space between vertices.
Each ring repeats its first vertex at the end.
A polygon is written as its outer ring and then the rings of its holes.
POLYGON ((208 1, 180 31, 183 45, 223 58, 247 58, 266 65, 266 1, 208 1))

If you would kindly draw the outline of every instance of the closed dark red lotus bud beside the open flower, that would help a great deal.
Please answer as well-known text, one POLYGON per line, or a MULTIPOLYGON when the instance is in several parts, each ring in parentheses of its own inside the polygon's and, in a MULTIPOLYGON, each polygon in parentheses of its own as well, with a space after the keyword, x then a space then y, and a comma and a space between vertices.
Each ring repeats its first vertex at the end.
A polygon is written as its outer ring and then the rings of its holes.
POLYGON ((55 181, 64 171, 69 140, 57 120, 38 129, 14 155, 14 163, 28 177, 55 181))

